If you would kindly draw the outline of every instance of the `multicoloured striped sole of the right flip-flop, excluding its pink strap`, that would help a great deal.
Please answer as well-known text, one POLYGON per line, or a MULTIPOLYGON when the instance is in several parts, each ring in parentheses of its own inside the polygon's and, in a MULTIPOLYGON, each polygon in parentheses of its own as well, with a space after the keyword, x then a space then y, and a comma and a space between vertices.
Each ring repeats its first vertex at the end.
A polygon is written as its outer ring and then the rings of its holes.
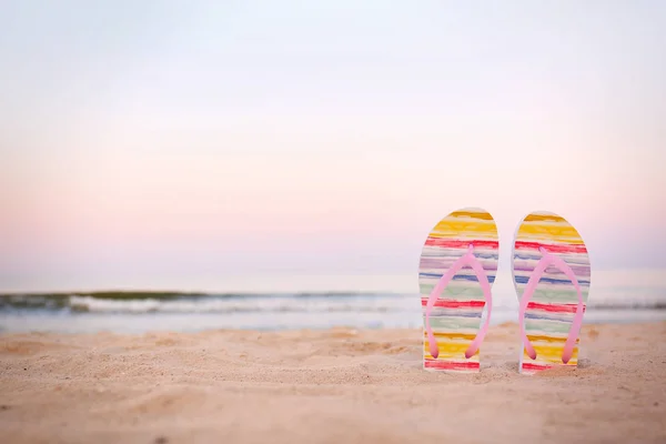
MULTIPOLYGON (((591 266, 585 243, 565 219, 548 212, 532 213, 518 225, 513 253, 513 278, 518 301, 542 258, 541 246, 551 254, 557 254, 572 268, 578 279, 583 301, 587 303, 591 266)), ((553 366, 575 367, 578 364, 577 345, 571 361, 567 364, 562 362, 577 304, 574 284, 557 268, 548 268, 525 313, 525 331, 536 351, 536 359, 532 360, 523 347, 521 373, 532 374, 553 366)))

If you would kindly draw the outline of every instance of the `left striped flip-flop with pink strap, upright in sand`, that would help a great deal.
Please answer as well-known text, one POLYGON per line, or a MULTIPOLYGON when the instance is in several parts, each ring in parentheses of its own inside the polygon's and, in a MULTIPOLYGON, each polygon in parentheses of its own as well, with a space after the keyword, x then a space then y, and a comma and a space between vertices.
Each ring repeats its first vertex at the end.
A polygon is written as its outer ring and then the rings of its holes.
POLYGON ((425 240, 418 265, 425 370, 478 372, 498 246, 495 220, 476 208, 448 214, 425 240))

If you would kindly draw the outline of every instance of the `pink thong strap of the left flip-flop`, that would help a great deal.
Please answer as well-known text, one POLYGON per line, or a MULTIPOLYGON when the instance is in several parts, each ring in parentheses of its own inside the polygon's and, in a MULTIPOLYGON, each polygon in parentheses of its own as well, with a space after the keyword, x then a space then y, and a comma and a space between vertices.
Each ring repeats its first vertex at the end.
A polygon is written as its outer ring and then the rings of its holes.
POLYGON ((483 326, 481 327, 481 330, 476 334, 476 337, 474 337, 474 341, 472 341, 472 343, 470 344, 470 347, 465 352, 466 359, 474 356, 474 354, 481 346, 481 343, 483 342, 483 339, 485 337, 485 334, 488 330, 488 324, 491 322, 491 311, 493 310, 491 284, 488 282, 488 276, 486 275, 485 270, 483 269, 483 265, 474 256, 473 250, 474 250, 474 245, 471 243, 467 252, 462 258, 460 258, 457 261, 455 261, 453 263, 453 265, 451 265, 448 271, 442 275, 442 278, 440 279, 440 281, 437 282, 437 284, 435 285, 435 287, 433 289, 433 291, 431 292, 431 294, 427 299, 427 305, 425 307, 425 331, 427 333, 427 340, 430 343, 430 352, 434 359, 437 359, 437 356, 440 355, 440 347, 437 346, 437 341, 435 339, 435 334, 433 333, 433 329, 431 327, 431 324, 430 324, 431 312, 435 305, 435 302, 437 301, 437 299, 440 297, 440 295, 442 294, 444 289, 453 280, 453 276, 455 276, 455 274, 458 271, 461 271, 465 265, 468 265, 470 268, 472 268, 472 270, 476 274, 476 278, 478 279, 478 283, 481 284, 481 287, 483 289, 483 295, 485 297, 486 305, 488 307, 488 315, 487 315, 483 326))

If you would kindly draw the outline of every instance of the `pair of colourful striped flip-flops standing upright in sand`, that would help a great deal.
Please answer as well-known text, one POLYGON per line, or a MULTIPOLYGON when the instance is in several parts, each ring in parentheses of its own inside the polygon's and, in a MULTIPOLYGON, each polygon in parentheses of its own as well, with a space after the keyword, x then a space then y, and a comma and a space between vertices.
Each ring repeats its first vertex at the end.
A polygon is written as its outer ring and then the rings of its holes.
MULTIPOLYGON (((480 371, 498 260, 497 225, 485 210, 455 211, 431 231, 418 266, 425 370, 480 371)), ((528 214, 515 234, 512 271, 519 301, 521 373, 576 366, 591 276, 578 232, 557 214, 528 214)))

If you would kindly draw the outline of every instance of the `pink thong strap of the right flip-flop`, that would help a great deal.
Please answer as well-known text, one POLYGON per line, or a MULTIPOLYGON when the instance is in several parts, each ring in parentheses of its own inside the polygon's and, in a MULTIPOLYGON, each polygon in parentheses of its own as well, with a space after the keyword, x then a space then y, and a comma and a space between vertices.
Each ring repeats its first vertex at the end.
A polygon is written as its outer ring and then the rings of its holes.
POLYGON ((546 269, 549 265, 557 266, 573 282, 578 294, 578 305, 576 306, 574 322, 572 323, 572 327, 569 329, 568 336, 564 344, 564 351, 562 352, 562 362, 566 364, 572 359, 574 346, 576 345, 576 339, 578 337, 578 332, 581 331, 581 326, 583 325, 583 314, 585 311, 585 306, 583 303, 583 294, 581 291, 581 285, 578 284, 578 280, 576 279, 576 274, 574 273, 572 268, 561 258, 548 253, 543 246, 539 248, 539 251, 543 254, 543 256, 534 268, 534 271, 529 276, 529 281, 527 281, 527 285, 525 286, 525 291, 523 292, 523 297, 521 299, 521 309, 518 314, 521 319, 521 335, 523 336, 523 344, 525 345, 527 355, 535 360, 536 351, 532 346, 532 343, 527 337, 527 333, 525 333, 525 312, 527 311, 527 304, 534 295, 534 291, 536 290, 536 286, 538 285, 538 282, 544 275, 546 269))

